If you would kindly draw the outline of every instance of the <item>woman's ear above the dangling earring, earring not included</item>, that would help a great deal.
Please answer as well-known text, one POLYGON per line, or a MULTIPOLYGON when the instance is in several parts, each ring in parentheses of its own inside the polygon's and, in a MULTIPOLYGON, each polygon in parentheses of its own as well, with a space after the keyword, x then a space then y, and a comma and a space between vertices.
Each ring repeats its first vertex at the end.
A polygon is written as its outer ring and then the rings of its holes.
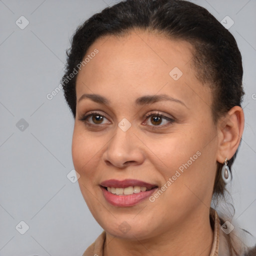
POLYGON ((223 163, 235 153, 241 140, 244 127, 244 114, 240 106, 233 106, 223 117, 219 118, 217 161, 223 163))

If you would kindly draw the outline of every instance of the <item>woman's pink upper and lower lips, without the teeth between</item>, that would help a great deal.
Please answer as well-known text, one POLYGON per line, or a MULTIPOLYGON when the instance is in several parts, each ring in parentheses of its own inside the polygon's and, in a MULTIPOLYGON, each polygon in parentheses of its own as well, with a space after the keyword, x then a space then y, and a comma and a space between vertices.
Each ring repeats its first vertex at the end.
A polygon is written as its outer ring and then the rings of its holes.
POLYGON ((147 182, 137 180, 137 179, 124 179, 124 180, 108 179, 100 183, 100 188, 107 202, 109 202, 114 206, 127 207, 127 206, 133 206, 139 203, 140 201, 144 200, 145 198, 149 197, 157 189, 157 185, 149 184, 147 182), (106 190, 106 187, 125 188, 128 186, 144 186, 150 190, 140 191, 139 193, 133 193, 128 195, 112 194, 111 192, 108 192, 106 190))

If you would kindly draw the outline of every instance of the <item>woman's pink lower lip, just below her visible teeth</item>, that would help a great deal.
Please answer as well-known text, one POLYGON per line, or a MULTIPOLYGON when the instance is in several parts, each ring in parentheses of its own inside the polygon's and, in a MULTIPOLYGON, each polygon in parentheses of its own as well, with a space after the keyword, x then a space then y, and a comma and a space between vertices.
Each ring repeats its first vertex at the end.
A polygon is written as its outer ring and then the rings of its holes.
POLYGON ((144 200, 145 198, 149 197, 157 187, 150 189, 148 191, 140 191, 139 193, 127 194, 127 195, 117 195, 108 192, 104 187, 100 186, 103 192, 103 196, 105 197, 106 201, 111 203, 114 206, 119 207, 127 207, 133 206, 140 201, 144 200))

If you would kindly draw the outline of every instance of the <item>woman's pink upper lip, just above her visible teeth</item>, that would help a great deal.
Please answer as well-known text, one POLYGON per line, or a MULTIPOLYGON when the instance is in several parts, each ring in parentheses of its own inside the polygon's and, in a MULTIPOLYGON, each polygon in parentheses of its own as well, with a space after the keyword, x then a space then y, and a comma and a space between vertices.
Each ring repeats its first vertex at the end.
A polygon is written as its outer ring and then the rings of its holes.
POLYGON ((102 181, 100 185, 105 187, 119 187, 119 188, 125 188, 128 186, 145 186, 146 188, 152 188, 157 186, 156 184, 150 184, 138 179, 123 179, 123 180, 108 179, 108 180, 102 181))

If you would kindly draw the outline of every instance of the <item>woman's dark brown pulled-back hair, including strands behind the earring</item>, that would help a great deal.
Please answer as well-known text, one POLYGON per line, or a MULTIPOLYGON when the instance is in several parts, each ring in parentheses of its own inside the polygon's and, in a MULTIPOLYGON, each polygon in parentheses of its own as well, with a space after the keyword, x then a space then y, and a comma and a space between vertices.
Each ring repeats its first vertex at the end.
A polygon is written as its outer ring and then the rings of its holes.
MULTIPOLYGON (((210 107, 214 123, 233 106, 241 106, 244 94, 241 54, 233 35, 212 14, 185 0, 125 0, 91 16, 72 37, 61 84, 73 117, 77 75, 70 79, 69 74, 77 68, 96 39, 105 35, 122 36, 134 28, 191 43, 191 65, 195 76, 212 91, 210 107)), ((228 161, 230 170, 236 153, 228 161)), ((216 199, 223 198, 225 192, 222 165, 217 163, 213 188, 216 199)))

